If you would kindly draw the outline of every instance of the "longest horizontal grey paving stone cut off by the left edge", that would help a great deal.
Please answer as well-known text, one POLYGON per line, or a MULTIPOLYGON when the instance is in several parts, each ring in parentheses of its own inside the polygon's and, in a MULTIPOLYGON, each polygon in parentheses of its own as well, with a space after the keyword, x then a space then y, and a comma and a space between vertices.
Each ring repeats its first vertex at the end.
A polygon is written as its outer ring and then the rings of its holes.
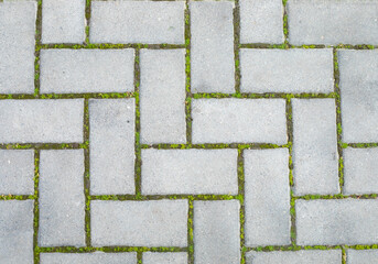
POLYGON ((83 99, 1 100, 1 143, 83 142, 83 99))

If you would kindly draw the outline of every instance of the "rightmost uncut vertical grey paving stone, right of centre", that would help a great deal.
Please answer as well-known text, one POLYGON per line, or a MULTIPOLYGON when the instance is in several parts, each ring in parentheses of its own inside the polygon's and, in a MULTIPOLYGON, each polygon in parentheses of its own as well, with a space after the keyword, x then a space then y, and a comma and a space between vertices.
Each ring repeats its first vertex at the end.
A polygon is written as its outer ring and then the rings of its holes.
POLYGON ((295 195, 339 193, 334 99, 293 99, 295 195))

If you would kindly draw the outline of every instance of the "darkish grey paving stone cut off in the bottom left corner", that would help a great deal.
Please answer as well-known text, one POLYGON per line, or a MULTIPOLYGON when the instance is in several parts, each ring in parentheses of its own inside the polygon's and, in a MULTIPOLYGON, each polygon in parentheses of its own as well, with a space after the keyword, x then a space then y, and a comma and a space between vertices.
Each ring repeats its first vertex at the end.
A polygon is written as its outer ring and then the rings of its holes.
POLYGON ((0 260, 33 264, 33 200, 0 200, 0 260))

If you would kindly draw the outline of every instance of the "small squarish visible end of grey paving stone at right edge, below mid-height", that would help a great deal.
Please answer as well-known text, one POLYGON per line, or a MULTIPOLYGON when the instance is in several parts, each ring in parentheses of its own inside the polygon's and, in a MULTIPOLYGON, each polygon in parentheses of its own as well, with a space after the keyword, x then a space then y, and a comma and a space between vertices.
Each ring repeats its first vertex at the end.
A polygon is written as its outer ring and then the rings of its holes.
POLYGON ((378 193, 378 150, 345 148, 344 188, 345 195, 363 195, 378 193))

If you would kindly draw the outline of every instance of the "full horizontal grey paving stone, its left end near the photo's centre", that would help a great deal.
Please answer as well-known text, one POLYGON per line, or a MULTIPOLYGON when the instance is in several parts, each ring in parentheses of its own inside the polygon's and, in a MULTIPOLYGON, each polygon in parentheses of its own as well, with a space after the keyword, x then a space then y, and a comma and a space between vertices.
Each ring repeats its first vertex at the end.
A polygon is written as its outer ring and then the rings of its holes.
POLYGON ((274 143, 287 136, 283 99, 192 100, 193 143, 274 143))

